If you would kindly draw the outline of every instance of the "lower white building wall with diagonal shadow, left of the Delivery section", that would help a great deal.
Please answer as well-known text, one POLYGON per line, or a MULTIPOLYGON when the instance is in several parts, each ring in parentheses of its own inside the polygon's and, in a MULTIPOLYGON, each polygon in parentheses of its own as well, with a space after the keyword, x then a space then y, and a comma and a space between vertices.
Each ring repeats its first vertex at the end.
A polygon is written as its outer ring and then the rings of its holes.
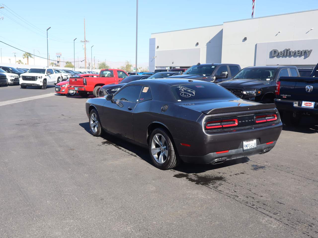
POLYGON ((155 39, 155 66, 221 63, 222 35, 222 25, 151 34, 155 39))

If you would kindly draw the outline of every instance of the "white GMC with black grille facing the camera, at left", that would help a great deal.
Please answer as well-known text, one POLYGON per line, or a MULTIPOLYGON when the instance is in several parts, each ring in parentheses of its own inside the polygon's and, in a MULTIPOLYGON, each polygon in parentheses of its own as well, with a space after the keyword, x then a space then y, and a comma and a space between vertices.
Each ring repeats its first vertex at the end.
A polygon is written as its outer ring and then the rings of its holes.
POLYGON ((54 73, 52 68, 46 69, 29 69, 26 73, 20 75, 20 85, 22 89, 28 86, 38 86, 42 89, 46 89, 49 84, 56 84, 61 81, 61 75, 54 73))

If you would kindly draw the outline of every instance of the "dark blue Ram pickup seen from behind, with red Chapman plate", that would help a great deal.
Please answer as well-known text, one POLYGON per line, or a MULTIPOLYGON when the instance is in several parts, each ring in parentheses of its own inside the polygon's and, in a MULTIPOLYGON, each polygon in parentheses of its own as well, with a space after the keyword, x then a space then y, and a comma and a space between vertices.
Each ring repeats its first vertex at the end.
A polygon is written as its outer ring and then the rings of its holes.
POLYGON ((275 104, 297 122, 300 115, 318 116, 318 64, 310 77, 280 77, 276 84, 275 104))

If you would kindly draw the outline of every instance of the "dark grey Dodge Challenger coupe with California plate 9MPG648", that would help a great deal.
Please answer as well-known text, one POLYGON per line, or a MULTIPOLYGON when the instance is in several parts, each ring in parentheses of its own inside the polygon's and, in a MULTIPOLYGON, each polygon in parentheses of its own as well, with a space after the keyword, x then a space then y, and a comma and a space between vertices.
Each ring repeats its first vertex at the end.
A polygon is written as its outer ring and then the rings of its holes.
POLYGON ((199 80, 133 81, 106 100, 86 102, 92 134, 105 130, 148 147, 159 169, 180 160, 217 164, 263 154, 273 149, 282 129, 274 104, 242 100, 199 80))

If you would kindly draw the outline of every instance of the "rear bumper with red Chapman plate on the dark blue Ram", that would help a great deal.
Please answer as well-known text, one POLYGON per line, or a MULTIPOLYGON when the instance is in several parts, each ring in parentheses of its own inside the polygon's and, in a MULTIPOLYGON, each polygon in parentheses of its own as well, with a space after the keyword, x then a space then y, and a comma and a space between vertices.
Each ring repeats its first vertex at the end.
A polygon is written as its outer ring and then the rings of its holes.
POLYGON ((309 113, 318 115, 318 105, 317 102, 315 103, 315 108, 305 108, 300 107, 301 102, 299 101, 291 101, 291 100, 281 100, 281 99, 274 99, 274 103, 276 104, 276 108, 280 111, 290 111, 296 113, 309 113))

